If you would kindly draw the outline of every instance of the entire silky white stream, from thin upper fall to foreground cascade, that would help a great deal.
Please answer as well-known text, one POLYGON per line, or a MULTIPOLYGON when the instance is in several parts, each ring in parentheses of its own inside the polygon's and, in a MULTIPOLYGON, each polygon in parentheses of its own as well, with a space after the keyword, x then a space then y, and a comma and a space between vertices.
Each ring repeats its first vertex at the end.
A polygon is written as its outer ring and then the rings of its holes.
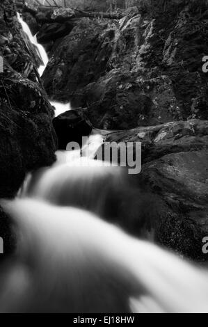
POLYGON ((130 190, 120 193, 124 170, 93 161, 102 141, 92 135, 82 159, 58 152, 22 199, 1 201, 17 253, 1 270, 0 312, 208 312, 207 271, 106 221, 120 203, 114 196, 125 202, 130 190))

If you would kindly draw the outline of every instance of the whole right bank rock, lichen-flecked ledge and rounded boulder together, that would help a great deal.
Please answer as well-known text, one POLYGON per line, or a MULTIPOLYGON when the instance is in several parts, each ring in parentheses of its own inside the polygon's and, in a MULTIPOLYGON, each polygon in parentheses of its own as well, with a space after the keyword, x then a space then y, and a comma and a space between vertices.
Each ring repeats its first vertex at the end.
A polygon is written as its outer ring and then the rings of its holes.
POLYGON ((120 143, 134 143, 134 158, 135 144, 141 142, 143 166, 134 182, 157 197, 148 220, 157 242, 191 259, 207 260, 202 239, 208 233, 208 121, 116 131, 107 134, 105 142, 115 142, 118 148, 120 143))

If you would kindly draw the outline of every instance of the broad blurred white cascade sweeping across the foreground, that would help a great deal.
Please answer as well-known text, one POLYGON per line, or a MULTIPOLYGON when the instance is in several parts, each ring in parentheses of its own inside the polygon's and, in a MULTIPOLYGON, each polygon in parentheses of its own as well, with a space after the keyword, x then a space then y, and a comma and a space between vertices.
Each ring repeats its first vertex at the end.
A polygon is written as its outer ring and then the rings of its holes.
POLYGON ((79 209, 1 205, 18 236, 1 312, 208 312, 207 271, 79 209))

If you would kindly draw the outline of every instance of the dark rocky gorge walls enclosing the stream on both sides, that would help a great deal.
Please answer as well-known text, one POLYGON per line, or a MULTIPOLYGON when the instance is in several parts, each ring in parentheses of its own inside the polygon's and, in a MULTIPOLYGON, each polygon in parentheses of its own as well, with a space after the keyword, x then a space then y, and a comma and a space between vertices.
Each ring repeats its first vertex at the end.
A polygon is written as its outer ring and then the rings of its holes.
MULTIPOLYGON (((14 3, 2 1, 1 198, 15 196, 26 173, 54 162, 49 99, 70 102, 105 141, 141 142, 143 166, 135 179, 155 196, 157 242, 207 260, 207 1, 136 1, 112 17, 30 6, 22 12, 49 63, 40 79, 40 58, 22 33, 14 3)), ((74 141, 70 129, 69 135, 74 141)), ((0 236, 10 251, 10 223, 2 217, 0 236)))

